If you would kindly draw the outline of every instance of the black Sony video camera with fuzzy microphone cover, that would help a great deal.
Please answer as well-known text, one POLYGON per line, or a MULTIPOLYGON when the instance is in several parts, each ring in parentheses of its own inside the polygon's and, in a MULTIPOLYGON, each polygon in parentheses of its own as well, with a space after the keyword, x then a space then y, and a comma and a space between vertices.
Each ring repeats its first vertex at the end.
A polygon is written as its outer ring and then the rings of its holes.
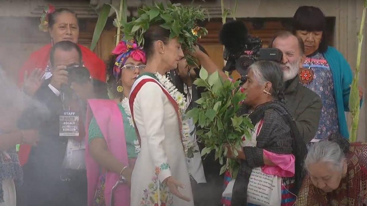
POLYGON ((283 53, 276 48, 261 48, 262 41, 251 37, 244 22, 236 20, 223 25, 219 41, 224 45, 223 59, 227 61, 225 71, 234 71, 241 75, 241 82, 246 82, 248 67, 257 60, 281 62, 283 53))

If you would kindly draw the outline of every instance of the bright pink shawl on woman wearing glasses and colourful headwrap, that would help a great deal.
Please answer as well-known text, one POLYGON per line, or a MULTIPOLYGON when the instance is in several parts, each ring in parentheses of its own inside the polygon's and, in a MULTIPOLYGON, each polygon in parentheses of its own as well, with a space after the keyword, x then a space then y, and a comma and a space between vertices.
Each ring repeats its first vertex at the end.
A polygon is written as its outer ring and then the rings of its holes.
MULTIPOLYGON (((88 100, 87 123, 90 122, 94 115, 97 124, 101 129, 103 136, 107 142, 108 150, 119 159, 124 165, 128 165, 128 156, 126 149, 125 131, 123 118, 113 100, 90 99, 88 100)), ((97 189, 98 179, 101 167, 92 158, 88 147, 88 128, 86 129, 86 167, 88 180, 88 206, 92 206, 94 195, 97 189)), ((105 183, 105 203, 110 206, 112 187, 119 181, 119 174, 115 172, 106 173, 105 183)), ((115 206, 130 206, 130 187, 126 184, 120 184, 115 189, 114 194, 115 206)))

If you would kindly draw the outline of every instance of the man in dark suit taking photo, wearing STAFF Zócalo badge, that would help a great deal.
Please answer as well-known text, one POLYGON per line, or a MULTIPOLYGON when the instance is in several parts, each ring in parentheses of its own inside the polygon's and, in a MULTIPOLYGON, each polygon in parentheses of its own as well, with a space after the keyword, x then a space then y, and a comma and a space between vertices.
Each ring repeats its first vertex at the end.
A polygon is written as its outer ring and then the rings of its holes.
POLYGON ((40 141, 23 166, 22 195, 27 206, 86 205, 87 180, 84 159, 83 99, 94 96, 90 74, 80 48, 71 41, 52 47, 52 77, 44 80, 35 97, 46 104, 51 117, 41 123, 40 141), (77 88, 78 91, 75 91, 77 88))

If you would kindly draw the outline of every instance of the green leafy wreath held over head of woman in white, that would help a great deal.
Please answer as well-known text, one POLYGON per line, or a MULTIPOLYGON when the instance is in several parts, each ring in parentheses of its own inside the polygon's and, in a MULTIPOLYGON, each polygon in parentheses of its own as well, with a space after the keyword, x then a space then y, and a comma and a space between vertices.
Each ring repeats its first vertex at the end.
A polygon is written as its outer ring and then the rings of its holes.
POLYGON ((170 30, 170 38, 178 37, 183 49, 193 50, 197 40, 208 31, 197 26, 197 21, 205 20, 208 12, 199 7, 171 4, 165 8, 163 3, 154 6, 145 5, 138 10, 138 18, 124 25, 125 40, 136 39, 139 45, 144 44, 143 34, 149 25, 158 23, 164 29, 170 30))

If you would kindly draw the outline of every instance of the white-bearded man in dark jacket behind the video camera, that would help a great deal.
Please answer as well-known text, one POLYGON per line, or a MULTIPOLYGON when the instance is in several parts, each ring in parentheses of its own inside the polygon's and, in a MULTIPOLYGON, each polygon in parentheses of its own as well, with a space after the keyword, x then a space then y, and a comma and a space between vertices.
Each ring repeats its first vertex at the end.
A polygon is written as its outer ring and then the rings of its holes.
POLYGON ((319 127, 322 102, 315 92, 299 82, 299 69, 306 58, 304 43, 291 32, 283 31, 275 36, 270 47, 283 52, 281 66, 286 88, 284 97, 299 134, 308 144, 315 137, 319 127))

